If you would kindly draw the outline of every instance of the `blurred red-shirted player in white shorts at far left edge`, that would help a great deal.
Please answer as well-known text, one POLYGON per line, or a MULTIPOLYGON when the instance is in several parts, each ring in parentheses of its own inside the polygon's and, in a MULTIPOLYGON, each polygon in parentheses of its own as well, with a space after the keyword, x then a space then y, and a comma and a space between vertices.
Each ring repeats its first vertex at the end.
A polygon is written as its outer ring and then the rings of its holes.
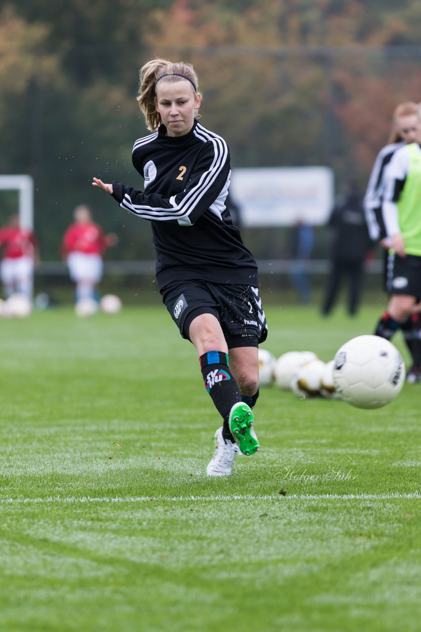
POLYGON ((20 293, 32 301, 33 269, 39 263, 39 248, 31 228, 21 228, 17 214, 9 217, 7 226, 0 229, 0 246, 3 258, 0 276, 4 295, 20 293))

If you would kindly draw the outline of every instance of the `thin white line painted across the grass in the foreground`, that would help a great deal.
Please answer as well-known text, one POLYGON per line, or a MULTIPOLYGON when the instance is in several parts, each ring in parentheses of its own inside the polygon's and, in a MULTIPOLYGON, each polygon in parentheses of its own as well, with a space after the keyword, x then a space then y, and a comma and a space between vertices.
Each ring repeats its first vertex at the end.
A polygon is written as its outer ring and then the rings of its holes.
POLYGON ((299 501, 384 501, 394 499, 421 499, 418 492, 408 492, 407 494, 391 493, 391 494, 287 494, 281 496, 274 495, 252 495, 252 494, 233 494, 233 495, 214 495, 214 496, 127 496, 127 497, 90 497, 82 496, 50 496, 47 498, 4 498, 0 499, 0 505, 11 504, 49 504, 49 503, 77 503, 77 502, 217 502, 217 501, 280 501, 285 502, 290 499, 299 501))

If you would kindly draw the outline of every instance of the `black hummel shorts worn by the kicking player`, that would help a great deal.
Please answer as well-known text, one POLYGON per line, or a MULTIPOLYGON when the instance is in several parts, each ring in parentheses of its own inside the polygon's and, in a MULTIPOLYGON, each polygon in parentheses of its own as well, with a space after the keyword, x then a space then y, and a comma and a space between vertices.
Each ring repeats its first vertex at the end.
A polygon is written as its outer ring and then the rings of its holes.
POLYGON ((193 279, 174 281, 161 290, 162 300, 183 338, 196 316, 213 314, 220 322, 228 349, 255 346, 268 335, 259 289, 193 279))

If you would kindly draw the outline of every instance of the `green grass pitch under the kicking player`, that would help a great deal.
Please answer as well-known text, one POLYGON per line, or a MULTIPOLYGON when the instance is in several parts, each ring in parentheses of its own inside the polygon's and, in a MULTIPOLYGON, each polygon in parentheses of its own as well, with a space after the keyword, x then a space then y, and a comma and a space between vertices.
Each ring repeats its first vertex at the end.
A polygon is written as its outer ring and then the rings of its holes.
MULTIPOLYGON (((378 314, 270 307, 264 348, 327 362, 378 314)), ((0 326, 2 631, 420 629, 421 385, 262 389, 261 452, 208 479, 220 421, 165 308, 0 326)))

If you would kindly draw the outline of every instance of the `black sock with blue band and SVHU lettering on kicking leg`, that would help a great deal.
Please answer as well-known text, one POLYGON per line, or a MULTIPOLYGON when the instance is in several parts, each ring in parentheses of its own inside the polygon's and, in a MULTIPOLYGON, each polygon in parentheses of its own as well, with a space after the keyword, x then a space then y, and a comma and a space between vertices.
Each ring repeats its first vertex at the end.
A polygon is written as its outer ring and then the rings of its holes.
POLYGON ((223 439, 234 441, 230 431, 229 416, 232 406, 241 401, 241 394, 234 375, 228 368, 228 354, 222 351, 208 351, 200 356, 199 362, 206 391, 223 418, 223 439))

